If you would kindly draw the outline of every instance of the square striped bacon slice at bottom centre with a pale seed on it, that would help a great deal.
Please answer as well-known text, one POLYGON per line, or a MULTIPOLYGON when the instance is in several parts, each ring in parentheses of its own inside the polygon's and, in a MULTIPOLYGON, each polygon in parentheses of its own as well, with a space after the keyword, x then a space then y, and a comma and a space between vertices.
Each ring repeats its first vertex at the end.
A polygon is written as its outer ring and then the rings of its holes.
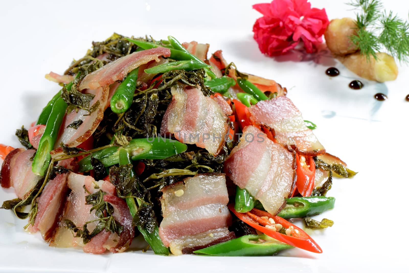
POLYGON ((164 219, 159 236, 173 254, 180 255, 183 248, 200 248, 229 235, 231 215, 223 174, 189 177, 162 192, 164 219), (205 233, 213 231, 216 237, 206 237, 205 233))

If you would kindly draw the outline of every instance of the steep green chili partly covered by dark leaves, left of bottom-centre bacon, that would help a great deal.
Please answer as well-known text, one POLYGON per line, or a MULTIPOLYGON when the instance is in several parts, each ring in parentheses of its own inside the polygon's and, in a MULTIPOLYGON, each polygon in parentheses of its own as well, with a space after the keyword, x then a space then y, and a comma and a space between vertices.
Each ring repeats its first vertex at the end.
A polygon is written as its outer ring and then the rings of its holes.
MULTIPOLYGON (((124 149, 120 148, 119 149, 119 165, 126 165, 126 164, 132 164, 130 157, 129 157, 129 152, 124 149)), ((135 176, 135 172, 132 170, 131 176, 135 176)), ((135 214, 138 211, 138 206, 135 203, 135 198, 134 197, 126 197, 126 204, 128 204, 130 214, 132 217, 135 216, 135 214)), ((140 206, 140 201, 138 201, 138 205, 140 206)), ((151 246, 153 252, 155 254, 159 255, 169 255, 169 250, 166 246, 163 245, 162 240, 159 237, 159 228, 157 227, 157 224, 155 224, 155 230, 153 233, 149 233, 145 228, 142 228, 142 226, 137 226, 139 232, 144 236, 145 241, 151 246)))

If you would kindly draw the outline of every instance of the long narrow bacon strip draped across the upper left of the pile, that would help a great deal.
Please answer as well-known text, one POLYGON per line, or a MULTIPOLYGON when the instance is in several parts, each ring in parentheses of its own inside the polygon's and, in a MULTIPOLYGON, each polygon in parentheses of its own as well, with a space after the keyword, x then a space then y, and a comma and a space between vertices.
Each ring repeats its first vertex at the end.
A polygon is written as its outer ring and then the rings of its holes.
POLYGON ((156 47, 121 57, 85 76, 79 85, 79 90, 87 88, 95 90, 98 87, 111 85, 115 81, 122 81, 133 69, 151 60, 159 61, 160 56, 171 56, 170 49, 156 47))

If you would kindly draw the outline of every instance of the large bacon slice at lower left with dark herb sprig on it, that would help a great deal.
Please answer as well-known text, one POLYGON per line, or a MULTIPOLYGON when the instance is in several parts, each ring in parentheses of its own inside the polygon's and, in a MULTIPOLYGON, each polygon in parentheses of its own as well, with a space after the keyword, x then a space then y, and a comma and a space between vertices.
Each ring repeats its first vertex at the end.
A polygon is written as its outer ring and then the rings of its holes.
MULTIPOLYGON (((58 224, 54 236, 50 242, 50 246, 55 247, 81 247, 84 252, 101 254, 106 250, 111 252, 124 251, 132 241, 134 235, 134 229, 129 226, 129 222, 132 221, 129 210, 124 210, 126 204, 123 200, 118 200, 115 196, 115 187, 107 181, 94 181, 90 176, 78 175, 70 173, 67 177, 68 187, 71 189, 71 193, 67 198, 65 204, 64 213, 58 224), (82 226, 89 221, 96 220, 98 217, 94 211, 90 213, 92 205, 85 204, 85 196, 88 195, 85 189, 94 193, 98 190, 106 192, 104 195, 104 201, 110 203, 114 208, 113 217, 124 227, 121 235, 110 233, 106 230, 102 230, 100 233, 91 238, 87 243, 83 243, 83 239, 80 237, 74 237, 71 230, 64 227, 63 220, 71 220, 77 227, 82 226)), ((87 229, 92 232, 99 221, 94 221, 87 225, 87 229)))

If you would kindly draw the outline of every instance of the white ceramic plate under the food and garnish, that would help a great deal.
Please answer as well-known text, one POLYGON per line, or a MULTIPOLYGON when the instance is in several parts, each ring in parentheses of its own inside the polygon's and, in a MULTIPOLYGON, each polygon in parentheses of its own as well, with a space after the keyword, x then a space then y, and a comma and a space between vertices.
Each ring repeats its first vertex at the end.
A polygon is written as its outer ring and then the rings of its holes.
MULTIPOLYGON (((259 1, 9 1, 0 18, 2 91, 0 143, 19 146, 15 129, 34 121, 58 86, 44 74, 62 73, 72 58, 80 58, 92 40, 117 31, 130 36, 152 35, 210 43, 227 61, 244 71, 272 78, 288 88, 288 97, 305 119, 318 125, 315 134, 327 151, 339 156, 359 174, 335 180, 329 196, 334 210, 323 217, 335 224, 307 232, 324 253, 297 249, 275 257, 161 257, 127 251, 90 255, 81 250, 50 248, 38 234, 22 229, 25 221, 0 210, 0 271, 2 272, 154 272, 167 271, 404 271, 406 266, 409 94, 407 66, 398 79, 379 84, 360 79, 322 51, 295 58, 263 56, 252 39, 259 1), (289 60, 291 59, 291 60, 289 60), (341 75, 325 75, 329 66, 341 75), (351 90, 360 79, 365 87, 351 90), (378 102, 373 95, 389 99, 378 102)), ((263 2, 262 0, 260 2, 263 2)), ((266 1, 267 2, 267 1, 266 1)), ((311 0, 325 7, 329 18, 353 16, 342 1, 311 0)), ((388 1, 387 8, 407 17, 408 2, 388 1)), ((0 190, 0 201, 14 198, 13 189, 0 190)), ((300 223, 300 226, 303 224, 300 223)))

